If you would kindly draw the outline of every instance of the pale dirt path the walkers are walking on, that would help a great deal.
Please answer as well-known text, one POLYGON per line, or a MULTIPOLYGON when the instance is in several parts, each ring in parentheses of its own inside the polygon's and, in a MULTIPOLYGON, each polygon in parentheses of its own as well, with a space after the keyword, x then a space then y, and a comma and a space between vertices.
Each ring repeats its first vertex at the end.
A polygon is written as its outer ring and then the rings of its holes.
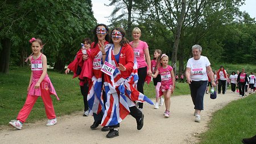
MULTIPOLYGON (((212 100, 204 97, 204 111, 201 122, 194 122, 193 103, 190 95, 171 98, 171 116, 164 118, 164 106, 154 109, 144 104, 144 126, 137 130, 137 124, 130 115, 120 124, 119 137, 106 138, 108 132, 101 132, 101 126, 90 130, 93 117, 83 117, 79 113, 57 117, 57 124, 46 126, 46 121, 24 124, 22 130, 7 127, 0 131, 0 143, 195 143, 198 134, 207 130, 212 112, 224 107, 232 100, 241 99, 238 94, 227 91, 212 100)), ((154 100, 153 100, 154 101, 154 100)))

